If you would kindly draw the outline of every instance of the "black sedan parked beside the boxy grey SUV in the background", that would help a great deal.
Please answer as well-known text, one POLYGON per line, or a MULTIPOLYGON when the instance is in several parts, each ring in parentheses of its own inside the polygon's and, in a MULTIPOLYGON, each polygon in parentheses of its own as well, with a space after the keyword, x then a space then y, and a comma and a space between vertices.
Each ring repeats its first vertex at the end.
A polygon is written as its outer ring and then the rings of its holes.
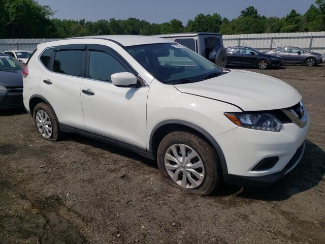
POLYGON ((227 66, 252 67, 261 70, 282 65, 282 58, 276 55, 265 54, 251 47, 226 48, 227 66))

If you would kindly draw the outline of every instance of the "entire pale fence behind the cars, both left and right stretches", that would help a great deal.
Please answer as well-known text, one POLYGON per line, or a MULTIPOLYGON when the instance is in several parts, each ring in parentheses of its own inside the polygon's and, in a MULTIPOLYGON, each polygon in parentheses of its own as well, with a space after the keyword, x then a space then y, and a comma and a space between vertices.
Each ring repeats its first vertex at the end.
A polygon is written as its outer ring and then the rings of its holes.
MULTIPOLYGON (((223 35, 222 38, 225 47, 248 46, 267 51, 276 47, 294 46, 314 52, 325 52, 325 32, 223 35)), ((0 39, 0 52, 34 51, 37 44, 55 40, 58 39, 0 39)))

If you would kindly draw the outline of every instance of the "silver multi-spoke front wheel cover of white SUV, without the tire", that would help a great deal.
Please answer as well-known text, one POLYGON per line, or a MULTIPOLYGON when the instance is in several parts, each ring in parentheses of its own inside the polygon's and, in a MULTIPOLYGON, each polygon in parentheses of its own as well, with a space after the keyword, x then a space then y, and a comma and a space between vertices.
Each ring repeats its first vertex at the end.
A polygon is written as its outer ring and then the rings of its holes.
POLYGON ((182 188, 197 188, 204 180, 204 164, 198 153, 187 145, 170 146, 166 151, 164 163, 172 180, 182 188))

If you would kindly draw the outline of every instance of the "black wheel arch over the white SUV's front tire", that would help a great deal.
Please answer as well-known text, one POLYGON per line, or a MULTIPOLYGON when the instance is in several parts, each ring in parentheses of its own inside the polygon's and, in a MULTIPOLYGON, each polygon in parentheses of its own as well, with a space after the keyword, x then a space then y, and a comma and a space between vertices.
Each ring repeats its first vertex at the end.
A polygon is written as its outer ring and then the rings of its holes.
POLYGON ((228 173, 228 168, 226 165, 226 161, 222 150, 219 144, 215 141, 215 139, 203 128, 192 124, 185 120, 178 120, 178 119, 169 119, 158 123, 150 134, 149 139, 149 150, 152 151, 154 158, 156 158, 156 151, 159 145, 159 142, 169 133, 177 130, 186 130, 191 133, 197 134, 205 139, 215 150, 220 163, 223 173, 228 173))

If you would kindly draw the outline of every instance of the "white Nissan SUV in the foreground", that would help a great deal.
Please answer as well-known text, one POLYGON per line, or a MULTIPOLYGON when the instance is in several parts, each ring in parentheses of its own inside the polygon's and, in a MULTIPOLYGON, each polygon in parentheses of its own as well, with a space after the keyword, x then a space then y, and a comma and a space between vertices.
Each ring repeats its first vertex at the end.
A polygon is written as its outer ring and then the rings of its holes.
POLYGON ((73 132, 133 150, 189 193, 269 185, 304 152, 309 119, 293 87, 220 68, 166 39, 43 43, 22 74, 25 108, 44 139, 73 132))

